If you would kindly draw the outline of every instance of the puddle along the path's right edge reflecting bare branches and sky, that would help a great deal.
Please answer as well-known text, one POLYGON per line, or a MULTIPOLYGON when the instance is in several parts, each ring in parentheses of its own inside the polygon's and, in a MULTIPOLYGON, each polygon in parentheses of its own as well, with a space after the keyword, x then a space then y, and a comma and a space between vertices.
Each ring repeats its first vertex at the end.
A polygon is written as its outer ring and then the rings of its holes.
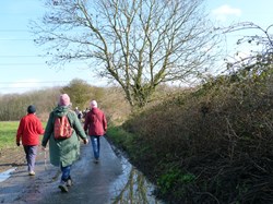
POLYGON ((149 203, 163 204, 153 195, 154 185, 138 171, 124 157, 121 157, 123 172, 110 188, 115 199, 112 204, 149 203))

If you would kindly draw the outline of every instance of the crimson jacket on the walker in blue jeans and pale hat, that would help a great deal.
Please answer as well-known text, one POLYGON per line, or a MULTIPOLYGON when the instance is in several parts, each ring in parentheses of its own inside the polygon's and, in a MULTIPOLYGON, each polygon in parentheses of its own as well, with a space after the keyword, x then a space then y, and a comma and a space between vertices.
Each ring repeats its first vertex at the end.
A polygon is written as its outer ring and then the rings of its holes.
POLYGON ((107 121, 104 112, 99 108, 92 108, 87 112, 84 122, 84 131, 88 130, 88 135, 103 136, 107 130, 107 121))

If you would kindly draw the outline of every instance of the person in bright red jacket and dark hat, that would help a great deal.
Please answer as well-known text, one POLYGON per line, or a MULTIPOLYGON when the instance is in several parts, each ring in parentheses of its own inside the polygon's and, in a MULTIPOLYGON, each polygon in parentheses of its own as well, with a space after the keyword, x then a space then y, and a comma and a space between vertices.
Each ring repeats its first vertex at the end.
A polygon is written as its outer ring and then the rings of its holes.
POLYGON ((20 141, 22 140, 24 146, 29 176, 35 175, 34 168, 39 144, 39 135, 45 132, 41 122, 35 116, 35 106, 31 105, 27 107, 27 115, 20 120, 16 134, 16 145, 20 146, 20 141))

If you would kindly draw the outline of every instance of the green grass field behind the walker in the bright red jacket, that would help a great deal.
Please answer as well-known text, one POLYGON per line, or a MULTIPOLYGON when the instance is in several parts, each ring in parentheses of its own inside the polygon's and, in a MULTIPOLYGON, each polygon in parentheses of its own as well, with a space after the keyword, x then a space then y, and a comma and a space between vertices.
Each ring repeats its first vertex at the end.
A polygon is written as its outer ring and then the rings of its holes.
MULTIPOLYGON (((16 146, 17 127, 19 121, 0 122, 0 149, 16 146)), ((43 123, 43 127, 45 128, 46 123, 43 123)))

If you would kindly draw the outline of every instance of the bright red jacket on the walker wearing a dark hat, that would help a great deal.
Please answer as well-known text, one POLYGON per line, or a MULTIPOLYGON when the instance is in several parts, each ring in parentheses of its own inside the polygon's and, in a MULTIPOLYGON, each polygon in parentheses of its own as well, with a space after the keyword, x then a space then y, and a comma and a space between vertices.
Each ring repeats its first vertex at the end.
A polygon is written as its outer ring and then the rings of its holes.
POLYGON ((22 137, 23 145, 38 145, 39 135, 44 134, 45 130, 41 122, 34 113, 27 113, 20 120, 16 143, 20 143, 22 137))

